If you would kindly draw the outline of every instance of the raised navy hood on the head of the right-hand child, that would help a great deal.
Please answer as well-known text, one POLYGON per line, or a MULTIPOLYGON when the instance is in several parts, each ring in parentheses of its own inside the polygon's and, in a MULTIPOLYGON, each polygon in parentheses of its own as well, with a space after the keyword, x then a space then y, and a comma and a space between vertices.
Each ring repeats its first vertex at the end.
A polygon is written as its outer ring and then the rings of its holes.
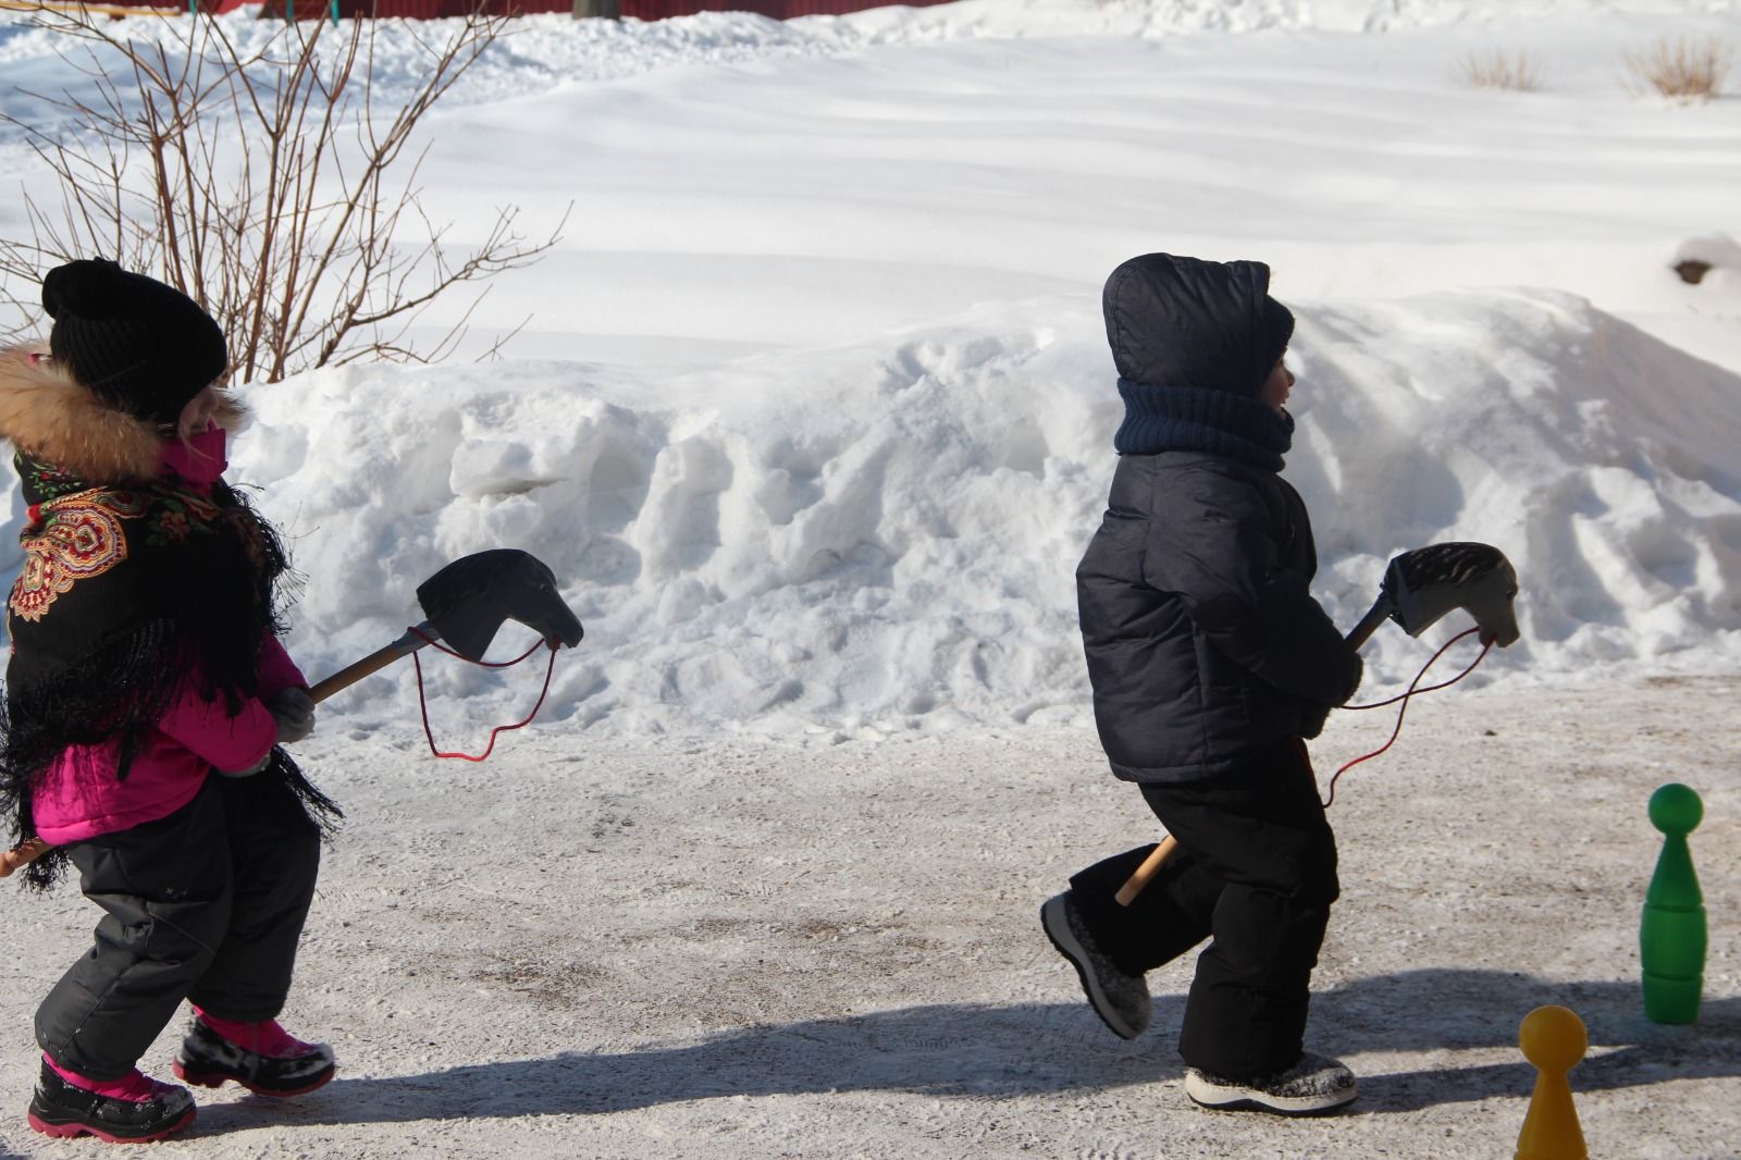
POLYGON ((1142 254, 1100 296, 1118 374, 1151 387, 1257 397, 1294 334, 1260 261, 1142 254))

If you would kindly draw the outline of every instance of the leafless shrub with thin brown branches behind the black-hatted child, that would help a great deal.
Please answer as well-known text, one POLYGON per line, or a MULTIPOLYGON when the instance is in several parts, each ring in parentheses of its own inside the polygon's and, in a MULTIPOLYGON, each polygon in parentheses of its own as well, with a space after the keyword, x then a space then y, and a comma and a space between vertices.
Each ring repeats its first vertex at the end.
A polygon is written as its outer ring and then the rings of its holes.
POLYGON ((24 94, 30 113, 0 115, 61 195, 59 206, 26 195, 30 239, 0 239, 0 303, 24 319, 0 336, 40 326, 47 266, 106 256, 204 305, 242 381, 367 359, 427 362, 454 352, 487 287, 439 338, 414 343, 425 310, 561 240, 566 212, 528 235, 508 206, 482 240, 460 247, 420 197, 420 125, 507 17, 477 12, 428 35, 420 24, 421 80, 390 111, 371 99, 374 21, 286 23, 256 47, 221 19, 165 21, 155 42, 85 9, 33 23, 66 38, 61 56, 84 87, 24 94))

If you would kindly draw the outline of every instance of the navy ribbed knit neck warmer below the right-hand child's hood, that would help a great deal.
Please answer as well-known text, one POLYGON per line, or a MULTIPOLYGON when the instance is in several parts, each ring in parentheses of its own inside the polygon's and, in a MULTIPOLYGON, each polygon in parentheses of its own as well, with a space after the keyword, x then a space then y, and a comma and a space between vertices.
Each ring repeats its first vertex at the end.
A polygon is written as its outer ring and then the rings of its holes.
POLYGON ((1294 444, 1294 416, 1257 399, 1198 387, 1151 387, 1118 380, 1125 422, 1112 435, 1119 455, 1208 451, 1254 467, 1281 470, 1294 444))

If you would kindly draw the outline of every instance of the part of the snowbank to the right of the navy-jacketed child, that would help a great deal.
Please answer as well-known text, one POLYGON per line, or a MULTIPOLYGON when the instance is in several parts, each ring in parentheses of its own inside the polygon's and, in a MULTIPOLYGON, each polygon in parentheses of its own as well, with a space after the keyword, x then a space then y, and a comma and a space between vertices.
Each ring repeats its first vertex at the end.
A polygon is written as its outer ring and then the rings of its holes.
POLYGON ((1295 350, 1290 475, 1349 611, 1372 557, 1473 538, 1522 578, 1511 664, 1732 653, 1741 378, 1548 291, 1306 312, 1295 350))

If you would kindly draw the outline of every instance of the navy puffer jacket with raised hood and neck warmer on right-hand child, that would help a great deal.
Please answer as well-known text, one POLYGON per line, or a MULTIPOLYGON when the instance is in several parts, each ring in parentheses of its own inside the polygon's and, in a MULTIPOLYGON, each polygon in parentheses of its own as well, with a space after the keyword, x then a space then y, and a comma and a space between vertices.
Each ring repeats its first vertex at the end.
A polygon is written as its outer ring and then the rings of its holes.
POLYGON ((1168 254, 1107 282, 1123 455, 1076 590, 1095 723, 1126 780, 1213 777, 1314 737, 1360 685, 1307 590, 1306 505, 1276 474, 1292 420, 1257 399, 1292 331, 1267 284, 1260 263, 1168 254))

